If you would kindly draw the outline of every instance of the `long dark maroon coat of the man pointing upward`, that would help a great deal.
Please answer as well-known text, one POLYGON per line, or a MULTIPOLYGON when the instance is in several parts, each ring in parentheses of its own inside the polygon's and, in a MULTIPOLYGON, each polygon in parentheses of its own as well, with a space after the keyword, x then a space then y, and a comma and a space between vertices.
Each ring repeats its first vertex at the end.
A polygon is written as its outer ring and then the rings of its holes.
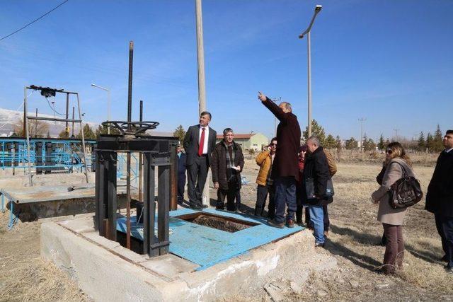
POLYGON ((300 127, 297 117, 292 112, 283 112, 269 98, 263 102, 263 105, 280 120, 277 126, 277 151, 275 151, 272 167, 272 178, 294 176, 298 180, 300 127))

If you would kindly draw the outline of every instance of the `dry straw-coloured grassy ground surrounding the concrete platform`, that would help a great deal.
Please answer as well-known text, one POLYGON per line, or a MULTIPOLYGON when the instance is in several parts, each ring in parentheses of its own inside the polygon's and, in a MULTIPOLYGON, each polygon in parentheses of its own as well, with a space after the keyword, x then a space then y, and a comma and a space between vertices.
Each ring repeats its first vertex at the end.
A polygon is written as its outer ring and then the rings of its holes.
MULTIPOLYGON (((382 265, 384 247, 378 245, 382 225, 370 194, 377 189, 379 164, 339 163, 333 178, 335 197, 329 205, 331 229, 325 249, 338 267, 313 272, 309 280, 282 286, 289 301, 448 301, 453 299, 453 276, 443 270, 443 252, 432 214, 425 202, 411 207, 406 216, 406 253, 403 270, 394 277, 374 270, 382 265)), ((426 190, 433 167, 415 165, 426 190)), ((251 213, 256 201, 258 166, 246 161, 243 175, 250 181, 241 190, 243 211, 251 213)), ((212 190, 211 197, 215 198, 212 190)), ((6 229, 8 212, 0 213, 0 301, 88 301, 76 283, 54 266, 40 260, 40 221, 18 223, 6 229)), ((297 268, 297 264, 294 264, 297 268)), ((257 300, 269 297, 258 297, 257 300)), ((243 300, 241 297, 235 300, 243 300)), ((254 300, 254 299, 253 299, 254 300)))

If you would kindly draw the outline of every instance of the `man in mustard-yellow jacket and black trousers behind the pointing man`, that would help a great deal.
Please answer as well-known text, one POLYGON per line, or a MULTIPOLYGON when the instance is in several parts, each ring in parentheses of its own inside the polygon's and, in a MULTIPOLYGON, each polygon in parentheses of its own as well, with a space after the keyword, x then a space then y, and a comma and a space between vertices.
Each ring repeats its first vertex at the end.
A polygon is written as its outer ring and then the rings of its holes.
POLYGON ((275 215, 273 180, 270 178, 272 164, 275 158, 275 150, 277 150, 276 137, 271 139, 270 145, 267 146, 264 151, 259 153, 258 156, 256 156, 256 164, 260 166, 260 171, 258 172, 258 177, 256 178, 258 187, 256 187, 255 215, 263 216, 266 198, 269 193, 268 217, 270 219, 273 219, 275 215))

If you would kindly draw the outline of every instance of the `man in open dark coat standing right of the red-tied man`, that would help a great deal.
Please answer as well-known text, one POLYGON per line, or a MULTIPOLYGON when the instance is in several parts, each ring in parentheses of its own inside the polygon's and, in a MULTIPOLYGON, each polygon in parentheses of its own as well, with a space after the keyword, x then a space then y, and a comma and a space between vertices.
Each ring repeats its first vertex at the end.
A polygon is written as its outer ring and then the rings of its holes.
POLYGON ((243 153, 241 146, 234 141, 231 128, 224 129, 224 139, 215 145, 212 152, 212 182, 217 189, 217 209, 239 211, 240 201, 234 198, 241 190, 241 171, 243 168, 243 153))

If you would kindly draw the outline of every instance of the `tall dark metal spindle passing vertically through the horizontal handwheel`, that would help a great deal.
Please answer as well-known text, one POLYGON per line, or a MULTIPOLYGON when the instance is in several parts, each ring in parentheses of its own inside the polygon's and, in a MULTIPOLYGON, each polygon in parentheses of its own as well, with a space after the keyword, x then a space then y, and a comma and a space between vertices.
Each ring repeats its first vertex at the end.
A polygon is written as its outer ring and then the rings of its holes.
MULTIPOLYGON (((127 122, 132 119, 132 59, 134 57, 134 42, 129 42, 129 89, 127 92, 127 122)), ((132 129, 131 124, 127 124, 127 131, 132 129)), ((127 152, 126 163, 126 248, 130 249, 130 152, 127 152)))

